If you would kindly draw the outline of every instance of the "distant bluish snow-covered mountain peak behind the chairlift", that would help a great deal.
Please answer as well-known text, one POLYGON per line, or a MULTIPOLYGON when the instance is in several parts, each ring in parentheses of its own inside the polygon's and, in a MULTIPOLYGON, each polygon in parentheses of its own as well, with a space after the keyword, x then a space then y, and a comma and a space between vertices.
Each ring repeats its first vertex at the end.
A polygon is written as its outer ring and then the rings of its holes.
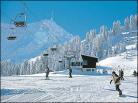
POLYGON ((48 47, 63 44, 73 35, 65 31, 53 20, 42 20, 27 24, 25 28, 10 30, 13 25, 1 24, 1 58, 14 63, 21 63, 40 55, 48 47), (8 41, 7 36, 14 32, 15 41, 8 41))

